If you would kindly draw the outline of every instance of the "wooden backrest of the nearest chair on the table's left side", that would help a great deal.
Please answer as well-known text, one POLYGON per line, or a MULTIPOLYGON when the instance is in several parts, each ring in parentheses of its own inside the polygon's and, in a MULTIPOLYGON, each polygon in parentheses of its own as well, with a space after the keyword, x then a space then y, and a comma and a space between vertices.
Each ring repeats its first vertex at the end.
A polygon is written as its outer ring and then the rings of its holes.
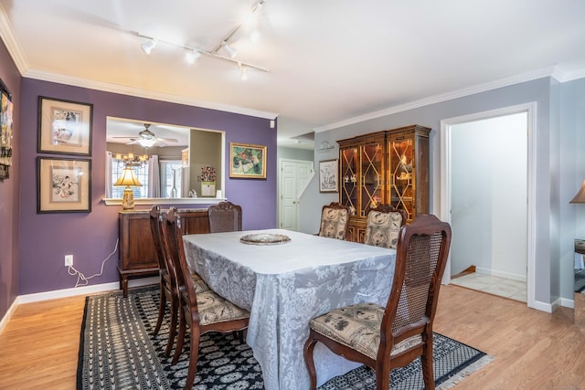
POLYGON ((163 238, 168 249, 168 256, 171 259, 169 264, 175 272, 179 299, 187 298, 189 306, 187 309, 192 313, 197 312, 197 295, 186 263, 181 218, 176 207, 171 207, 163 220, 163 238))

